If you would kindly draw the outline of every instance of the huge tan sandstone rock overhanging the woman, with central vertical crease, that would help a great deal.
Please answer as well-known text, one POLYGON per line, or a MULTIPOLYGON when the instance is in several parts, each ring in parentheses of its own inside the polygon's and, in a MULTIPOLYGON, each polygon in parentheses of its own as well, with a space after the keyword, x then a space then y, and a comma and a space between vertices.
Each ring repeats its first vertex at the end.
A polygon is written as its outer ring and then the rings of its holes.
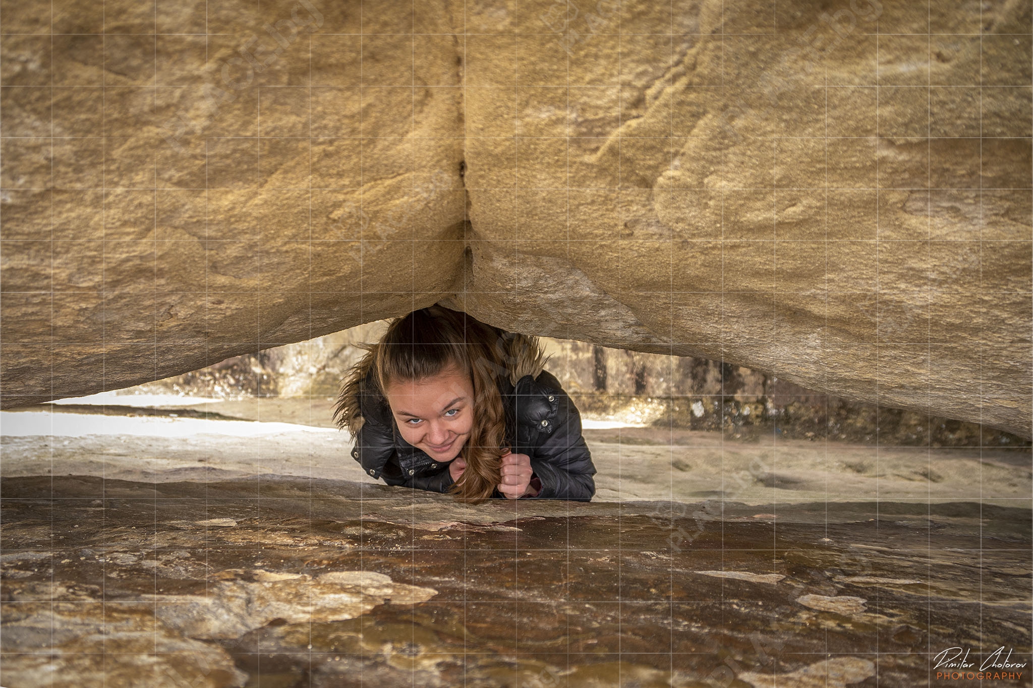
POLYGON ((1028 3, 119 4, 5 10, 4 405, 444 301, 1031 433, 1028 3))

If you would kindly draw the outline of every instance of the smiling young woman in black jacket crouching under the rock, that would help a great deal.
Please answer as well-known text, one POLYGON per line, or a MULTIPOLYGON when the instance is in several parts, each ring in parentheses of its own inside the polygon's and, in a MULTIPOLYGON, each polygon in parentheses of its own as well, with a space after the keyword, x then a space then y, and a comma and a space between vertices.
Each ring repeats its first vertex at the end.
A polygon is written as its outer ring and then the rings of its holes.
POLYGON ((536 337, 442 306, 392 322, 344 380, 334 419, 374 478, 463 501, 595 494, 581 416, 536 337))

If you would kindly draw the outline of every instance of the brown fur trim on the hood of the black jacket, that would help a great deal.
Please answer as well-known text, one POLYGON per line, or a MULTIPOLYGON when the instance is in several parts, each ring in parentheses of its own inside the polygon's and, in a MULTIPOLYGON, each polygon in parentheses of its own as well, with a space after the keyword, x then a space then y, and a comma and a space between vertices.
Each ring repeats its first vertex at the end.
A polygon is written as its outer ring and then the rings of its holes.
MULTIPOLYGON (((544 370, 549 357, 542 351, 538 337, 503 332, 502 342, 505 348, 504 364, 508 373, 506 378, 510 387, 515 387, 516 382, 525 375, 537 379, 544 370)), ((366 407, 375 405, 370 403, 374 400, 383 402, 383 394, 377 387, 376 375, 370 374, 377 345, 359 346, 367 353, 342 381, 341 393, 334 407, 334 422, 338 428, 347 429, 352 436, 357 436, 366 420, 363 417, 362 400, 367 400, 366 407)))

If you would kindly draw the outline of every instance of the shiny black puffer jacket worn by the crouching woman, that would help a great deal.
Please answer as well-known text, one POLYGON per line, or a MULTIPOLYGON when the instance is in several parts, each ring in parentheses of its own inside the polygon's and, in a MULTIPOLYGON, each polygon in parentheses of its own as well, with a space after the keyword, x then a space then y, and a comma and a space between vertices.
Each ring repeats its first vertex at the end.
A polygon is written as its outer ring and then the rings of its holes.
MULTIPOLYGON (((370 370, 356 390, 365 421, 351 456, 373 478, 431 492, 452 485, 448 463, 437 463, 402 438, 386 400, 370 370)), ((547 371, 525 374, 513 385, 500 379, 506 409, 506 443, 514 454, 531 457, 531 469, 541 481, 539 499, 589 501, 595 494, 595 466, 582 436, 581 415, 559 381, 547 371)), ((504 497, 498 490, 493 497, 504 497)))

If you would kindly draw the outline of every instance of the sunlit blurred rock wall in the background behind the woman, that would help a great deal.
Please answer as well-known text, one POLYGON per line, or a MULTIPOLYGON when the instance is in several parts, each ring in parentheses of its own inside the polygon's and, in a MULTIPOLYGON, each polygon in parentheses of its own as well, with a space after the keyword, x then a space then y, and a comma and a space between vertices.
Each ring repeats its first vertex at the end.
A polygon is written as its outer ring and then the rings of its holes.
MULTIPOLYGON (((331 426, 342 378, 379 338, 385 321, 299 343, 234 356, 121 394, 175 393, 233 401, 220 413, 331 426), (253 402, 248 405, 248 402, 253 402), (259 411, 260 409, 260 411, 259 411)), ((702 358, 645 354, 542 337, 547 369, 587 420, 905 447, 1028 447, 995 428, 848 401, 773 375, 702 358)))

